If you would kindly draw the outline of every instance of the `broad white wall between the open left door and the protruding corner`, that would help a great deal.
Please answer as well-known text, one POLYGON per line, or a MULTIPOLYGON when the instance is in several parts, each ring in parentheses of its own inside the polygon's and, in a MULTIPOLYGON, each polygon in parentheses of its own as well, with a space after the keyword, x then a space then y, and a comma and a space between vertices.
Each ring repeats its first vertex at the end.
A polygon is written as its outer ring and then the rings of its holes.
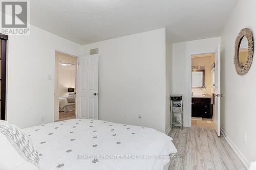
POLYGON ((165 133, 165 29, 84 45, 82 54, 97 47, 99 119, 165 133))

